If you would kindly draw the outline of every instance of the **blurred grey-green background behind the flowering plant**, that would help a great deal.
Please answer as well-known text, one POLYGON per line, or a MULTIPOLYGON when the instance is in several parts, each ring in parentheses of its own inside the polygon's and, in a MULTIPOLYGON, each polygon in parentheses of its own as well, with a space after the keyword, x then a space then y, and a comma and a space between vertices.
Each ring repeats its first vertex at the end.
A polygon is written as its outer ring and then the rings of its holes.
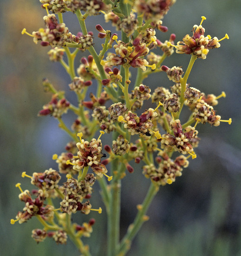
MULTIPOLYGON (((21 35, 23 27, 31 33, 44 26, 45 10, 40 8, 39 1, 1 0, 0 10, 0 255, 77 256, 79 253, 71 241, 66 246, 57 246, 51 239, 36 244, 31 230, 41 225, 35 218, 21 225, 10 225, 10 219, 23 208, 15 184, 20 182, 23 189, 33 189, 27 178, 21 178, 21 173, 56 168, 52 155, 60 154, 69 141, 55 119, 37 117, 37 112, 51 97, 43 92, 42 79, 47 77, 58 89, 67 91, 70 101, 76 100, 68 90, 70 80, 62 66, 48 61, 49 48, 35 45, 32 38, 21 35)), ((211 50, 206 60, 196 61, 188 82, 205 93, 219 95, 225 91, 227 97, 220 99, 215 110, 222 119, 232 118, 232 125, 197 127, 201 137, 197 158, 190 161, 175 183, 161 187, 148 211, 150 220, 134 239, 128 256, 241 255, 240 14, 240 0, 177 0, 163 19, 169 31, 158 34, 161 41, 175 33, 177 42, 190 33, 194 24, 200 23, 202 15, 207 18, 203 23, 206 34, 218 38, 225 33, 229 35, 230 40, 222 41, 219 49, 211 50)), ((71 13, 63 17, 70 31, 76 34, 77 18, 71 13)), ((97 49, 100 43, 94 27, 97 23, 103 24, 102 20, 103 15, 87 19, 87 28, 94 32, 97 49)), ((80 57, 87 55, 87 52, 80 54, 76 65, 80 57)), ((183 66, 185 70, 188 62, 188 55, 173 54, 164 64, 183 66)), ((144 83, 152 90, 156 86, 172 85, 164 73, 152 75, 144 83)), ((69 124, 73 120, 71 115, 66 119, 69 124)), ((122 236, 133 221, 136 205, 142 202, 149 183, 141 174, 140 165, 123 180, 122 236)), ((91 204, 104 208, 98 184, 94 189, 91 204)), ((104 256, 105 211, 101 215, 90 215, 77 213, 74 219, 80 224, 89 218, 96 219, 91 238, 85 238, 84 242, 89 243, 93 256, 104 256)))

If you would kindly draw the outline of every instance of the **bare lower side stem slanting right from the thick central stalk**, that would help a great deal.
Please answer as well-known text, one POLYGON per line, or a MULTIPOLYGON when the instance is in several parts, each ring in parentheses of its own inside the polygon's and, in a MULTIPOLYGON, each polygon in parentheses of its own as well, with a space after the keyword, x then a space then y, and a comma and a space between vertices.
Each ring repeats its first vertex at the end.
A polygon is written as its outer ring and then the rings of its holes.
POLYGON ((129 229, 127 231, 127 234, 125 237, 122 239, 120 247, 117 250, 116 255, 117 256, 124 256, 126 252, 129 250, 131 241, 135 237, 136 233, 139 231, 141 228, 143 222, 145 219, 143 218, 146 211, 148 210, 154 196, 158 192, 159 187, 155 186, 153 183, 151 183, 149 191, 147 192, 147 195, 143 201, 142 207, 137 213, 134 223, 129 226, 129 229))

